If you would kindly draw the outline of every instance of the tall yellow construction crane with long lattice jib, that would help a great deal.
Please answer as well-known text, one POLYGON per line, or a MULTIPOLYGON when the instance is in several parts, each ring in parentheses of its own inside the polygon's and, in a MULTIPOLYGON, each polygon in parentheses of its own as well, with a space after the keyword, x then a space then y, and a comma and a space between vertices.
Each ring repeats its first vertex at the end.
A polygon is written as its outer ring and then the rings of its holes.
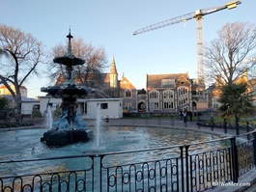
POLYGON ((213 14, 215 12, 221 11, 221 10, 231 10, 233 8, 236 8, 237 5, 241 4, 241 1, 233 1, 230 3, 225 4, 224 6, 218 6, 211 9, 204 9, 204 10, 197 10, 195 12, 184 14, 181 16, 177 16, 174 18, 170 18, 152 25, 149 25, 147 27, 144 27, 142 29, 139 29, 137 31, 133 32, 133 35, 142 34, 148 31, 156 30, 162 27, 166 27, 169 25, 173 25, 180 22, 185 22, 186 20, 190 20, 192 18, 195 18, 196 20, 196 36, 197 36, 197 77, 199 80, 199 83, 201 85, 204 85, 204 61, 203 61, 203 16, 207 14, 213 14))

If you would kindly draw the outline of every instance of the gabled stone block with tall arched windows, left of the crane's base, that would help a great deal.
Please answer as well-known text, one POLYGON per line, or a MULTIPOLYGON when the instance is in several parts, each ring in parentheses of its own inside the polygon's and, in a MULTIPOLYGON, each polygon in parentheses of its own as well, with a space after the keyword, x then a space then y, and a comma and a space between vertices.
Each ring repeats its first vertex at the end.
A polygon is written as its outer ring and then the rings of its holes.
POLYGON ((178 112, 206 109, 204 92, 188 73, 147 74, 147 111, 178 112))

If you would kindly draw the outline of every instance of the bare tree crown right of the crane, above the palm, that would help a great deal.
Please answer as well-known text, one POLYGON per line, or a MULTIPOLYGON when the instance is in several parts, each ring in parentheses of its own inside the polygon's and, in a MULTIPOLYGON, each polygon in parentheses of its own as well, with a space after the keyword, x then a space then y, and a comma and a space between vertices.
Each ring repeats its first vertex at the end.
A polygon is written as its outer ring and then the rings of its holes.
POLYGON ((205 46, 206 79, 213 82, 218 76, 225 84, 232 84, 243 69, 252 71, 255 66, 253 56, 256 48, 256 26, 234 22, 225 24, 218 32, 217 39, 205 46))

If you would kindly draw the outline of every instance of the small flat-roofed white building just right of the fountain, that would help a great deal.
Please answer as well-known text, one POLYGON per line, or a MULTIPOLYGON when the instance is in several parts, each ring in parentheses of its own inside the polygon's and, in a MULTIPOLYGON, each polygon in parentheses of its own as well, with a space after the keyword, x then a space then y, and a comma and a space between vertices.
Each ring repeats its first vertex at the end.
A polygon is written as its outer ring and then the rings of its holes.
POLYGON ((98 107, 102 119, 123 118, 123 98, 94 98, 87 100, 87 118, 96 119, 98 107))

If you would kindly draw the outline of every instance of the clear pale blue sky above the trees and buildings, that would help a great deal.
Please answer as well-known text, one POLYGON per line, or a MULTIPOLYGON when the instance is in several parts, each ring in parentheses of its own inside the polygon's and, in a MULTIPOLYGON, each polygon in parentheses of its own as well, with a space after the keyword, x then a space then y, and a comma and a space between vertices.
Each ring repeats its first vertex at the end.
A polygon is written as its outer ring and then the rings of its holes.
MULTIPOLYGON (((0 0, 0 24, 31 33, 43 42, 45 51, 65 43, 71 27, 74 39, 82 38, 86 43, 105 49, 109 68, 104 72, 110 71, 114 57, 119 80, 124 73, 136 89, 142 89, 146 88, 146 74, 188 72, 190 78, 196 78, 195 20, 137 36, 132 33, 169 18, 230 1, 0 0)), ((255 0, 242 0, 236 9, 205 15, 204 43, 216 39, 216 32, 228 22, 256 24, 255 8, 255 0)), ((29 97, 36 97, 45 96, 41 88, 52 84, 43 73, 41 77, 30 77, 24 86, 29 97)))

